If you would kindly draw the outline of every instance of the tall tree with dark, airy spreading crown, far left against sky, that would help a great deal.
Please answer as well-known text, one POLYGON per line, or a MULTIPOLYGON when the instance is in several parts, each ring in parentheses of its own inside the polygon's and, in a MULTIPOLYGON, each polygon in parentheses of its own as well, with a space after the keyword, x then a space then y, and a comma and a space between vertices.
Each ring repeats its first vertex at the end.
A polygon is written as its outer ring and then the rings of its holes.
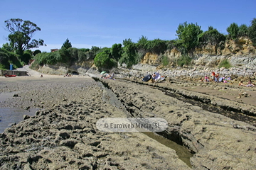
POLYGON ((23 51, 31 48, 36 48, 46 44, 43 40, 35 40, 33 35, 37 30, 41 30, 36 23, 31 21, 23 21, 19 18, 11 18, 10 20, 4 21, 6 28, 10 32, 8 40, 15 50, 18 50, 21 60, 23 60, 23 51))

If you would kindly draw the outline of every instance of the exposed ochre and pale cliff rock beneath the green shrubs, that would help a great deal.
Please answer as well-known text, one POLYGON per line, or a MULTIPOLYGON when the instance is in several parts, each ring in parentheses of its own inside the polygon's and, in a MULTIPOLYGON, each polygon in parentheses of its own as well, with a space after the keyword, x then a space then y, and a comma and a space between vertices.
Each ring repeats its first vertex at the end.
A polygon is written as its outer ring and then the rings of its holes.
MULTIPOLYGON (((167 50, 165 54, 170 61, 177 60, 181 56, 176 48, 167 50)), ((249 38, 240 38, 237 41, 228 40, 224 45, 204 45, 190 54, 193 64, 197 66, 216 67, 223 59, 228 59, 234 67, 256 68, 256 48, 249 38)), ((161 64, 161 57, 146 53, 142 59, 143 64, 161 64)))

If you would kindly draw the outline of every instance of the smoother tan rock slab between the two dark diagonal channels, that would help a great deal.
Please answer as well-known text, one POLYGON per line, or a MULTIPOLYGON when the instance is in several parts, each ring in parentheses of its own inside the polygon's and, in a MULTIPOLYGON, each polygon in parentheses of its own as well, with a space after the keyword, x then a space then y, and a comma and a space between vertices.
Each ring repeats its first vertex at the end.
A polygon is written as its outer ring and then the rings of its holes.
POLYGON ((169 128, 162 135, 195 153, 193 169, 256 168, 256 128, 252 125, 204 111, 148 86, 104 81, 134 117, 166 119, 169 128))

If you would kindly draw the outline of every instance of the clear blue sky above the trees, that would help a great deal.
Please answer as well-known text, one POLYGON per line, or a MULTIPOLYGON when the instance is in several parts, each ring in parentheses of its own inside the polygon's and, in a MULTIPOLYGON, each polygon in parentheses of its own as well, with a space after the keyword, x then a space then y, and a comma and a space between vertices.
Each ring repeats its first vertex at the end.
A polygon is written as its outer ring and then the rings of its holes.
MULTIPOLYGON (((126 38, 137 42, 142 35, 149 40, 174 40, 180 23, 198 23, 227 34, 231 23, 250 26, 256 18, 256 1, 231 0, 0 0, 0 47, 8 42, 4 21, 21 18, 36 23, 34 39, 43 39, 50 52, 68 38, 73 47, 111 47, 126 38)), ((36 50, 36 49, 33 49, 36 50)))

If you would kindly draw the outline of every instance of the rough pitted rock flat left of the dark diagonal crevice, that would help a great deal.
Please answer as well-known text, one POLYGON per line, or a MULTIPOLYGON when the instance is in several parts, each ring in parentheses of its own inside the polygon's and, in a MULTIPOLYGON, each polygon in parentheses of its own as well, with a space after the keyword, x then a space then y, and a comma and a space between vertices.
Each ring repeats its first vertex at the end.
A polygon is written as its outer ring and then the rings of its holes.
POLYGON ((0 134, 0 169, 191 169, 142 133, 98 130, 100 118, 127 114, 93 79, 28 79, 0 84, 0 92, 21 91, 1 106, 44 108, 0 134))

